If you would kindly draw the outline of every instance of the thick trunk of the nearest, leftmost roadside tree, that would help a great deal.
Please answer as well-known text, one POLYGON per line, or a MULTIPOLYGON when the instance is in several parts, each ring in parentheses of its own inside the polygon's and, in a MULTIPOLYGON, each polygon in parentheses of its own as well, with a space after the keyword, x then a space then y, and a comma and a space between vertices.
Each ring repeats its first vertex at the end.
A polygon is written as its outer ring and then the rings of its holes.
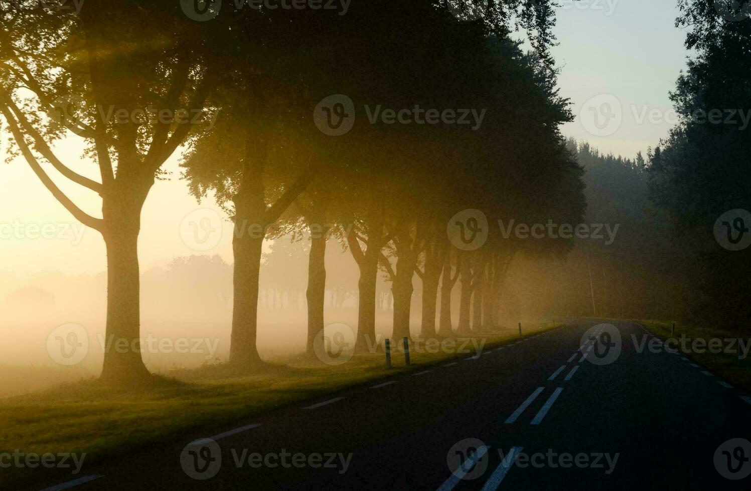
POLYGON ((131 190, 126 196, 103 198, 107 326, 101 380, 113 385, 137 384, 150 377, 141 356, 138 268, 140 211, 147 193, 148 187, 143 193, 131 190), (118 343, 124 343, 122 340, 128 342, 128 349, 116 349, 118 343))

